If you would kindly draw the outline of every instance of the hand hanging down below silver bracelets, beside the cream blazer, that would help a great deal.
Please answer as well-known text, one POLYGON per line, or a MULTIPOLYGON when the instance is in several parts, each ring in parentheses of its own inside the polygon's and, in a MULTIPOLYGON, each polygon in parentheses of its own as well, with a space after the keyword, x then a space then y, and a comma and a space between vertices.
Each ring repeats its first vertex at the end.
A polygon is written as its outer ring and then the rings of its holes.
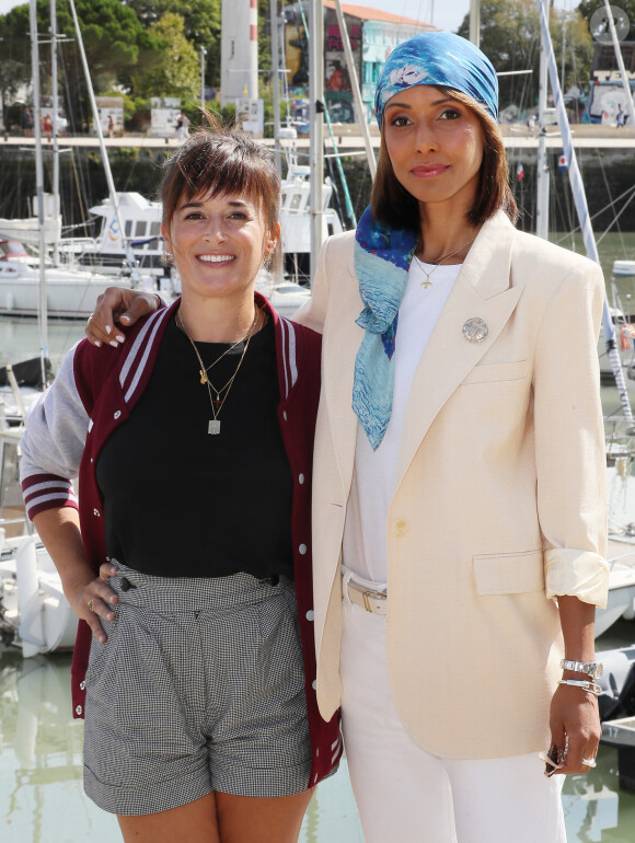
POLYGON ((556 772, 588 773, 591 765, 585 760, 594 762, 602 734, 598 697, 576 685, 558 685, 551 703, 550 727, 552 743, 558 749, 564 750, 568 738, 566 759, 556 772))

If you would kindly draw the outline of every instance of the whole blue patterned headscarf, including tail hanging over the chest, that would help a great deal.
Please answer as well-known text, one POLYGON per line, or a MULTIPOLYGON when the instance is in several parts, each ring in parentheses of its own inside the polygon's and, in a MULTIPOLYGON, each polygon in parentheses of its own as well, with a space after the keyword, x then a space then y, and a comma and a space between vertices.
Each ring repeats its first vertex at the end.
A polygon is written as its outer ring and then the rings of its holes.
MULTIPOLYGON (((415 85, 462 91, 498 116, 498 81, 489 59, 465 38, 448 32, 415 35, 389 56, 374 100, 377 120, 388 101, 415 85)), ((355 359, 353 409, 373 450, 381 444, 392 413, 393 354, 400 304, 417 246, 413 231, 380 224, 366 209, 355 233, 355 272, 365 308, 357 324, 365 330, 355 359)))

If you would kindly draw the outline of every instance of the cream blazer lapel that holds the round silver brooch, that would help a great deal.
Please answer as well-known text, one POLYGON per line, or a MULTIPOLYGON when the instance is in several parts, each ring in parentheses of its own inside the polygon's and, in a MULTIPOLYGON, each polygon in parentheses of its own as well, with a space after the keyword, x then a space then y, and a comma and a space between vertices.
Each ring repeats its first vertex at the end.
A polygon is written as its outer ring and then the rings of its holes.
POLYGON ((510 286, 513 234, 513 227, 505 213, 498 211, 481 229, 454 282, 413 380, 395 490, 435 417, 492 347, 522 293, 521 286, 510 286), (470 342, 463 335, 463 325, 475 317, 487 325, 487 336, 482 342, 470 342))

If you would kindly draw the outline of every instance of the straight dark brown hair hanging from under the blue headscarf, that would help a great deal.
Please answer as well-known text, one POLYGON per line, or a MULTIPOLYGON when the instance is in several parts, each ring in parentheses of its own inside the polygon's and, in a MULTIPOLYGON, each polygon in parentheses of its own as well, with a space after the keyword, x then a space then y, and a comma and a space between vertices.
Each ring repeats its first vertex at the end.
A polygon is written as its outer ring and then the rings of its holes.
MULTIPOLYGON (((478 186, 474 205, 467 212, 467 218, 473 226, 478 226, 493 217, 496 211, 503 209, 512 222, 518 219, 516 199, 509 187, 509 170, 505 155, 505 146, 498 125, 487 112, 482 108, 471 96, 455 91, 453 88, 439 85, 447 96, 457 100, 472 109, 476 115, 483 135, 485 146, 483 148, 483 161, 478 173, 478 186)), ((419 206, 415 197, 397 181, 388 147, 385 143, 382 124, 381 146, 377 174, 370 195, 370 206, 373 217, 383 224, 394 229, 408 229, 419 233, 419 206)))

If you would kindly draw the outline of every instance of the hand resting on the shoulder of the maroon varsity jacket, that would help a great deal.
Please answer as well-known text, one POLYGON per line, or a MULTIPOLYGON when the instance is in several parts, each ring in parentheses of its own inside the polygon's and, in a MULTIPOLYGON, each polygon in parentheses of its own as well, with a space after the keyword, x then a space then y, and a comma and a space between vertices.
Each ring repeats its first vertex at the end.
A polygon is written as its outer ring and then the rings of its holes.
POLYGON ((106 287, 97 297, 95 309, 85 326, 89 342, 97 348, 103 344, 117 348, 125 342, 125 336, 120 330, 115 330, 115 322, 130 327, 140 316, 153 313, 159 308, 159 297, 153 292, 130 290, 126 287, 106 287))

